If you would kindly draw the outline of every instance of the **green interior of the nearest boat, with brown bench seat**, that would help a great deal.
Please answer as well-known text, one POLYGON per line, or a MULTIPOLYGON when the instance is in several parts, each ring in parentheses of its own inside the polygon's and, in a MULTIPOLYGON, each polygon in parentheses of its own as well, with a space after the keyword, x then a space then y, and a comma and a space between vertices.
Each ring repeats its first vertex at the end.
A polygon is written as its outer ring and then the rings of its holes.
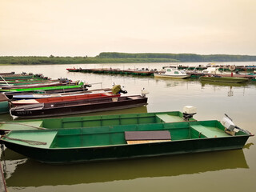
MULTIPOLYGON (((237 135, 246 134, 238 131, 235 136, 237 135)), ((18 130, 11 131, 7 136, 12 138, 12 140, 18 138, 18 141, 11 142, 25 146, 31 146, 30 142, 38 142, 37 146, 32 146, 53 149, 137 144, 134 141, 139 141, 138 143, 142 143, 143 141, 174 142, 187 139, 234 137, 226 134, 224 126, 216 120, 58 130, 18 130), (127 137, 126 135, 129 132, 132 133, 127 137)), ((9 140, 9 138, 5 139, 9 140)))

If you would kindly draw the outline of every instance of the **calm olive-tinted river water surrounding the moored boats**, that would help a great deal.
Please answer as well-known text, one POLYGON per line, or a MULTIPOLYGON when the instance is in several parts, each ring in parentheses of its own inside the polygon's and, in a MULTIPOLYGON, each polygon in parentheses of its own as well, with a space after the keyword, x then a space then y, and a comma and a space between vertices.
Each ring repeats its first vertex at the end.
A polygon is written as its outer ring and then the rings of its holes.
MULTIPOLYGON (((186 63, 196 66, 206 63, 186 63)), ((234 63, 218 63, 234 64, 234 63)), ((256 65, 237 62, 236 65, 256 65)), ((148 105, 130 110, 95 114, 146 113, 182 110, 196 106, 198 120, 221 120, 229 114, 234 123, 256 133, 256 83, 214 84, 194 80, 174 80, 119 74, 70 73, 66 68, 112 67, 120 69, 161 69, 161 64, 80 64, 54 66, 0 66, 0 73, 32 72, 50 78, 69 78, 94 84, 90 89, 111 87, 115 82, 126 87, 128 95, 147 94, 148 105)), ((185 64, 183 64, 185 65, 185 64)), ((81 115, 81 114, 80 114, 81 115)), ((88 115, 88 114, 86 114, 88 115)), ((9 114, 0 121, 12 120, 9 114)), ((201 154, 182 154, 161 158, 143 158, 114 162, 94 162, 53 166, 35 162, 6 149, 1 162, 8 191, 255 191, 256 137, 250 137, 242 150, 201 154)))

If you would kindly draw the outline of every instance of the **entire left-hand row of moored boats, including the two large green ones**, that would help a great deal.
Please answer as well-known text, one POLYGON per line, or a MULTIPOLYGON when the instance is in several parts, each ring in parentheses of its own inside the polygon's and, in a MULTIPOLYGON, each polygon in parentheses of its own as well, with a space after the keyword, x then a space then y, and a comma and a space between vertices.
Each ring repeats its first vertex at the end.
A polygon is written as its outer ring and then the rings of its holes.
MULTIPOLYGON (((38 87, 38 92, 42 87, 46 86, 38 87)), ((54 89, 48 87, 43 94, 34 94, 34 89, 19 90, 17 86, 2 89, 16 90, 2 91, 3 97, 10 102, 11 115, 34 119, 0 122, 0 142, 38 162, 94 162, 234 150, 242 149, 253 136, 235 126, 227 115, 222 122, 197 121, 194 106, 185 106, 182 112, 43 118, 147 104, 146 90, 142 95, 122 96, 126 90, 120 85, 111 89, 70 92, 69 89, 56 89, 54 93, 54 89)), ((86 89, 84 84, 78 88, 86 89)))

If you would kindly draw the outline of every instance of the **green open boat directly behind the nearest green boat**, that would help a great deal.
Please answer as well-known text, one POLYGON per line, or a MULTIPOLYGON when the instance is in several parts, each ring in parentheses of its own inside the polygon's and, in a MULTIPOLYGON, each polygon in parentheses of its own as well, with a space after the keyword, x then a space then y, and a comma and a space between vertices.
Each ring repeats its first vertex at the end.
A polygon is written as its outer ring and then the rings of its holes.
POLYGON ((65 129, 94 126, 124 126, 131 124, 152 124, 166 122, 195 121, 192 117, 185 118, 179 111, 140 113, 140 114, 112 114, 68 118, 45 118, 34 120, 18 120, 0 122, 0 131, 10 130, 42 130, 65 129))

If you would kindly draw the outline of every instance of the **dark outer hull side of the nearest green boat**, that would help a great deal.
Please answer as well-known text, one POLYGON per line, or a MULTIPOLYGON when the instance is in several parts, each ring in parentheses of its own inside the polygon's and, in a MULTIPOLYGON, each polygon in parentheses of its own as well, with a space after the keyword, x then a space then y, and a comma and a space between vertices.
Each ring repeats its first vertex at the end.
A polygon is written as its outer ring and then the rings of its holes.
POLYGON ((98 146, 72 149, 42 149, 21 146, 5 141, 10 150, 14 150, 26 157, 39 162, 75 163, 98 162, 106 160, 120 160, 125 158, 147 158, 173 154, 189 154, 217 150, 242 149, 249 135, 230 138, 201 138, 186 141, 154 142, 140 145, 98 146))

